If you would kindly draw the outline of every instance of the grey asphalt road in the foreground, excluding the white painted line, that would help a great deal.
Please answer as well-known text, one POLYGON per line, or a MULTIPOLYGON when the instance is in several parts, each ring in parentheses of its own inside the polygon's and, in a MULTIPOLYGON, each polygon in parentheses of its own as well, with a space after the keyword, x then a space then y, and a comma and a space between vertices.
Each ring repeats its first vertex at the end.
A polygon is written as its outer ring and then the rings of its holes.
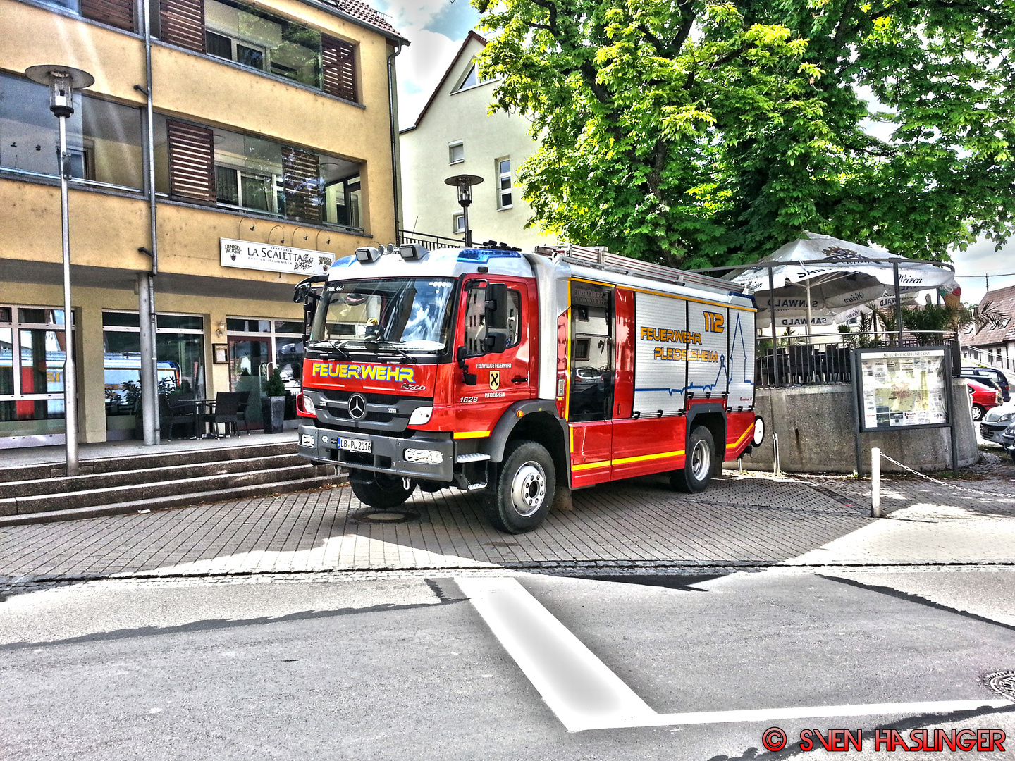
MULTIPOLYGON (((0 758, 808 758, 818 754, 792 742, 808 728, 863 729, 862 753, 834 755, 883 758, 871 736, 888 727, 1001 728, 1015 748, 1011 705, 568 732, 462 592, 490 574, 461 586, 335 577, 103 581, 7 598, 0 758), (791 738, 777 754, 762 748, 770 725, 791 738)), ((984 675, 1015 670, 1006 567, 515 578, 661 714, 979 705, 999 698, 984 675)))

